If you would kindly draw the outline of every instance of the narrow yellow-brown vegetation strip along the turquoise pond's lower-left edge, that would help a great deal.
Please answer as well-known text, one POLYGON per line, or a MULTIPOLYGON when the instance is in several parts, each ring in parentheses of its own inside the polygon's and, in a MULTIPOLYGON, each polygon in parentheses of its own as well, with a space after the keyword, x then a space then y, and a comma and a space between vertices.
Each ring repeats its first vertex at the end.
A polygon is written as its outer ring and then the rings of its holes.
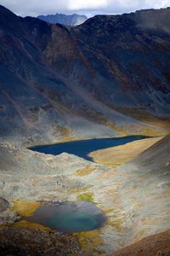
POLYGON ((26 220, 16 222, 12 226, 14 228, 26 227, 26 228, 31 228, 31 229, 35 229, 35 230, 42 230, 42 231, 48 231, 48 232, 51 231, 51 229, 49 229, 48 227, 45 227, 41 224, 30 222, 30 221, 26 221, 26 220))

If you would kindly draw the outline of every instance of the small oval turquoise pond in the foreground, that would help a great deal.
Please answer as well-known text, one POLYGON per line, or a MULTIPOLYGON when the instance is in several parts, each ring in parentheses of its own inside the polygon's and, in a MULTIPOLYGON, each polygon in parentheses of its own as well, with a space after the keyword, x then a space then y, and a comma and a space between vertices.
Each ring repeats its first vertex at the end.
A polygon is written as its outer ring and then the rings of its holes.
POLYGON ((95 230, 105 224, 105 214, 87 201, 42 205, 25 219, 65 233, 95 230))

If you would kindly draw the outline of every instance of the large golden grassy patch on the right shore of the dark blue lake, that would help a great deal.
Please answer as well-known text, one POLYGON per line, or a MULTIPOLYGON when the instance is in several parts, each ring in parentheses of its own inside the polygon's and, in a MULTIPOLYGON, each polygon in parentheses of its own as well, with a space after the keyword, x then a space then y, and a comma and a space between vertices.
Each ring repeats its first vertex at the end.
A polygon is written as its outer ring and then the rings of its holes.
POLYGON ((150 148, 161 138, 162 137, 147 138, 114 148, 97 150, 89 155, 93 157, 93 160, 96 163, 111 167, 120 166, 130 160, 133 160, 138 154, 142 153, 145 149, 150 148))

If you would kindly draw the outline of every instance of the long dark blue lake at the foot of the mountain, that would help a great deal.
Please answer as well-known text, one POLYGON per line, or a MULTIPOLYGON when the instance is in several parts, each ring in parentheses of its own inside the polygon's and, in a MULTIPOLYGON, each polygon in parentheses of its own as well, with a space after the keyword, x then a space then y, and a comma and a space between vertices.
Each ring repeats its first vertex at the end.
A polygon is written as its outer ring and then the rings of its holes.
POLYGON ((61 154, 63 152, 69 154, 76 154, 84 158, 85 160, 92 160, 88 154, 92 151, 104 148, 116 147, 133 141, 141 140, 144 136, 128 136, 128 137, 113 137, 113 138, 101 138, 91 139, 69 143, 57 143, 53 145, 44 145, 30 148, 31 150, 44 153, 44 154, 61 154))

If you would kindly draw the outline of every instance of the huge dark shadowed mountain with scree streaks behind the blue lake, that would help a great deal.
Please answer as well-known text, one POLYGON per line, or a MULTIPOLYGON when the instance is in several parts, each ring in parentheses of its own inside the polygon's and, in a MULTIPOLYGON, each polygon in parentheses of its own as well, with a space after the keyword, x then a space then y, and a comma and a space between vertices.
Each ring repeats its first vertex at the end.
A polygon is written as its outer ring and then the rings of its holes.
POLYGON ((170 9, 80 26, 0 6, 1 140, 162 135, 170 117, 170 9))

